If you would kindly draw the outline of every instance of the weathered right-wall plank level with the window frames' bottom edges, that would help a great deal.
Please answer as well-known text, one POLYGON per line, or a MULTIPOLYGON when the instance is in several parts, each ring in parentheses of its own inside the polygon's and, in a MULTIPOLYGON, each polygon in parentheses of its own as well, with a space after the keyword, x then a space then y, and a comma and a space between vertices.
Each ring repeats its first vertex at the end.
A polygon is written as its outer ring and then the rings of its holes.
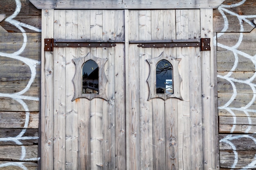
MULTIPOLYGON (((229 108, 232 110, 238 111, 249 111, 255 112, 256 110, 256 103, 252 102, 254 99, 254 94, 235 94, 234 100, 228 105, 229 108)), ((222 109, 230 99, 233 94, 229 93, 218 93, 218 106, 219 109, 222 109)))

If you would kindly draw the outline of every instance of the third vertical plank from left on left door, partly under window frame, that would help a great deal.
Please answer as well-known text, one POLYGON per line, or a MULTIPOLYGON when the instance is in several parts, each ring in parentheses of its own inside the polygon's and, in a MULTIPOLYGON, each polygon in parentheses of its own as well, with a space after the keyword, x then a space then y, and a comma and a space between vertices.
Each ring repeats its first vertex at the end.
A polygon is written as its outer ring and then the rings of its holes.
MULTIPOLYGON (((77 39, 78 12, 66 10, 66 39, 77 39)), ((72 102, 74 85, 72 79, 75 74, 73 58, 78 57, 78 48, 66 49, 66 169, 78 167, 78 102, 72 102)))

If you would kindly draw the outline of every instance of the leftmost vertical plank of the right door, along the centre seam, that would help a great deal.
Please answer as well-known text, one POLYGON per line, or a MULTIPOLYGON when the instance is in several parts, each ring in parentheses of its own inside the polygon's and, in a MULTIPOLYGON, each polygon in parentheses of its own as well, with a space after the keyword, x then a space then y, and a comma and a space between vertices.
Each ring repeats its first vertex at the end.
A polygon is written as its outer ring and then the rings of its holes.
POLYGON ((139 50, 129 40, 137 40, 139 35, 139 13, 129 11, 130 38, 126 40, 126 150, 127 169, 140 168, 140 125, 139 125, 139 50), (126 48, 127 49, 127 48, 126 48))

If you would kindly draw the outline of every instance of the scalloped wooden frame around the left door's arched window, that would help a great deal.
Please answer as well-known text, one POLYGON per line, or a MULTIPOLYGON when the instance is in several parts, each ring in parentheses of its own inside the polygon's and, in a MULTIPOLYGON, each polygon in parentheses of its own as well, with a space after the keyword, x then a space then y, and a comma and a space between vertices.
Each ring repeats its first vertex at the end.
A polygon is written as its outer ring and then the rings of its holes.
POLYGON ((108 101, 108 98, 105 93, 106 84, 108 82, 108 79, 104 72, 104 65, 106 64, 108 59, 95 57, 94 55, 92 55, 89 52, 85 57, 73 59, 73 61, 76 65, 76 73, 73 78, 74 98, 72 99, 72 101, 76 100, 77 98, 88 98, 89 100, 92 100, 93 98, 103 98, 104 100, 108 101), (83 94, 83 91, 82 91, 83 64, 88 60, 95 61, 99 67, 99 93, 98 94, 83 94))

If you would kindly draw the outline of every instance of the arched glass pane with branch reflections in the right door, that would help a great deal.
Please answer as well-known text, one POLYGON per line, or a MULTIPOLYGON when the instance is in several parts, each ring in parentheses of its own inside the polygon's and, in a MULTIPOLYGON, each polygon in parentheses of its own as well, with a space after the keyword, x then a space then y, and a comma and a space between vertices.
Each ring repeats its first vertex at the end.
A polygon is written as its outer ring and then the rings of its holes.
POLYGON ((173 66, 167 60, 161 60, 156 67, 157 94, 173 94, 173 66))

